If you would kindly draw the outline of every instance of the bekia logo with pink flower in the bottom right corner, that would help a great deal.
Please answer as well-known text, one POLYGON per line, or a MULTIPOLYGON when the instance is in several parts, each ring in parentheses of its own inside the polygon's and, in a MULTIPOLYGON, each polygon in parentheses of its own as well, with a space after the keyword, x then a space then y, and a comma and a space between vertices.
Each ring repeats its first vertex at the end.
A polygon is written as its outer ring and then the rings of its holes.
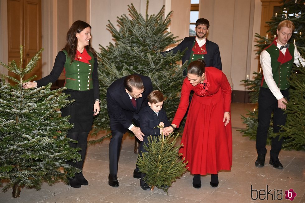
MULTIPOLYGON (((293 189, 286 190, 285 191, 285 199, 293 201, 294 197, 297 196, 297 193, 293 191, 293 189)), ((276 189, 270 189, 268 188, 268 185, 266 185, 266 190, 256 190, 253 189, 253 186, 251 185, 251 199, 252 200, 283 200, 283 191, 282 190, 276 190, 276 189)))

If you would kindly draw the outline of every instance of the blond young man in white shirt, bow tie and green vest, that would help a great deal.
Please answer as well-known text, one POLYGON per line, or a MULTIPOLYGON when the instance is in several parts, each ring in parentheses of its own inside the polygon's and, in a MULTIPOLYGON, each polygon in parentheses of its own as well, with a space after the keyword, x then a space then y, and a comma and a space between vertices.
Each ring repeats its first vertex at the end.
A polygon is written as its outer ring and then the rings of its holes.
MULTIPOLYGON (((300 56, 297 47, 288 43, 294 31, 293 22, 284 20, 279 23, 274 39, 260 54, 260 64, 263 70, 263 78, 258 97, 258 127, 256 134, 257 160, 255 165, 262 167, 265 164, 267 131, 270 125, 271 113, 273 112, 273 132, 280 130, 280 125, 285 125, 287 114, 286 104, 289 100, 288 79, 291 74, 293 63, 305 66, 304 59, 300 56), (300 62, 299 62, 300 61, 300 62)), ((279 161, 279 151, 282 148, 283 138, 272 138, 270 161, 274 168, 283 168, 279 161)))

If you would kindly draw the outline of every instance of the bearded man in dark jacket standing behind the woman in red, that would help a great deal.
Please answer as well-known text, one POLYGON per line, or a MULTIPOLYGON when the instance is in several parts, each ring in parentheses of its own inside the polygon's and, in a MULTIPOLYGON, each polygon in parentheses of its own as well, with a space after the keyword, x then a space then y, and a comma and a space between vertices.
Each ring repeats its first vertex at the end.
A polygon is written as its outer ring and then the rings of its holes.
MULTIPOLYGON (((163 53, 171 51, 174 53, 177 53, 178 51, 182 52, 187 48, 185 54, 182 56, 182 64, 187 60, 189 60, 188 64, 190 64, 190 62, 200 58, 204 60, 207 67, 213 66, 222 70, 218 45, 205 37, 209 31, 209 26, 210 24, 207 19, 199 18, 196 21, 196 36, 185 37, 178 46, 163 53)), ((183 71, 183 75, 186 76, 186 70, 183 71)))

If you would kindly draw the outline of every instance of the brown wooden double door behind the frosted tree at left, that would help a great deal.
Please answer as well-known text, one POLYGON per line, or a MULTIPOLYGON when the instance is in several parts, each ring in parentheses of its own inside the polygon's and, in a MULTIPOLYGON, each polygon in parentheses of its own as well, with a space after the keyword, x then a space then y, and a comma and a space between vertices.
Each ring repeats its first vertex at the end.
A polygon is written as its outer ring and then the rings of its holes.
MULTIPOLYGON (((41 48, 41 0, 7 0, 8 60, 27 64, 41 48), (20 59, 20 45, 24 45, 20 59)), ((23 67, 24 67, 23 64, 23 67)), ((16 77, 9 72, 9 76, 16 77)), ((41 78, 41 60, 25 79, 37 75, 41 78)))

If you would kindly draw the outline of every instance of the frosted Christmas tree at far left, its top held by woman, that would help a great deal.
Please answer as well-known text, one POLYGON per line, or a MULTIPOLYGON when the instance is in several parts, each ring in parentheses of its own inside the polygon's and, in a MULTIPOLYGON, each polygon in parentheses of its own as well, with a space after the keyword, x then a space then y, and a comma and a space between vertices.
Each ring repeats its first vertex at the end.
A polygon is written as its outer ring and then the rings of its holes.
POLYGON ((79 149, 69 147, 72 140, 65 137, 73 125, 67 117, 60 117, 58 110, 72 102, 66 100, 69 95, 60 93, 65 88, 50 90, 51 83, 37 89, 21 87, 35 77, 22 80, 35 67, 41 52, 42 49, 25 68, 22 68, 22 46, 19 67, 15 61, 8 65, 0 62, 21 78, 19 81, 2 75, 0 83, 0 180, 8 181, 2 191, 13 187, 13 197, 20 196, 21 187, 39 190, 43 180, 50 185, 59 180, 68 183, 64 172, 70 177, 80 172, 65 163, 81 160, 79 149), (5 78, 17 84, 6 84, 5 78))

